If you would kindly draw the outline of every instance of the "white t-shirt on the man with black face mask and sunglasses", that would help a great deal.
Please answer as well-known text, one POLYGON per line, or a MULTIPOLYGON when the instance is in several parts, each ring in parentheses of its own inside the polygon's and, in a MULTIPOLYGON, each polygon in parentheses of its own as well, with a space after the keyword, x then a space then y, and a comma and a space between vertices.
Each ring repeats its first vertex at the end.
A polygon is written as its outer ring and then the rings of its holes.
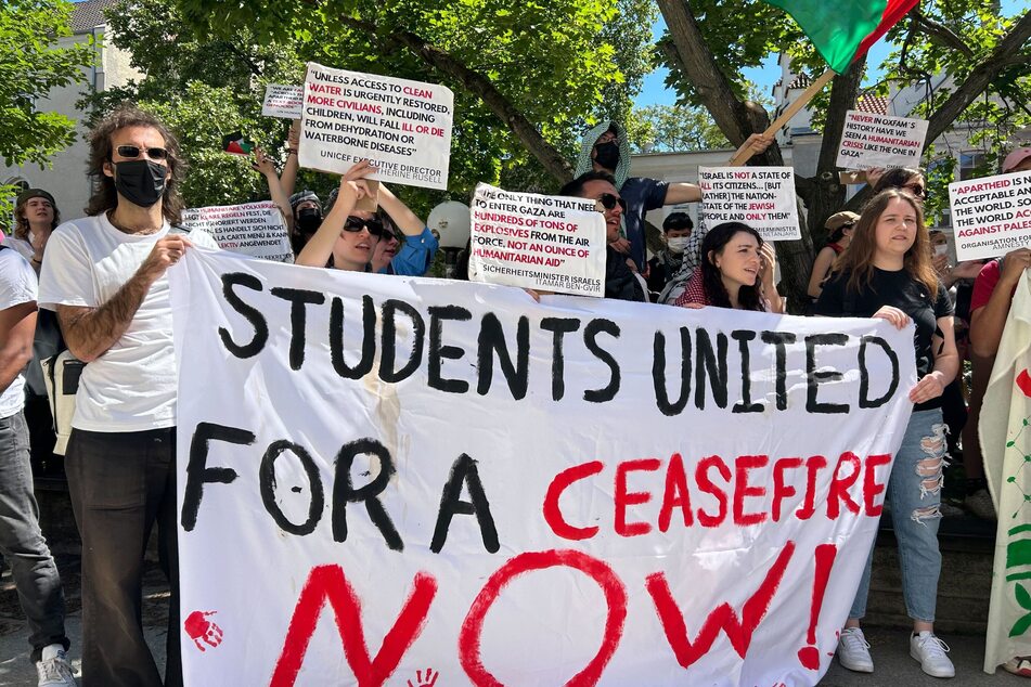
MULTIPOLYGON (((98 308, 136 274, 154 244, 168 234, 126 234, 105 213, 59 226, 47 244, 39 276, 39 307, 98 308)), ((189 233, 202 248, 217 248, 202 231, 189 233)), ((86 365, 75 397, 72 426, 87 431, 126 432, 176 424, 176 355, 168 275, 154 282, 129 328, 107 351, 86 365)))

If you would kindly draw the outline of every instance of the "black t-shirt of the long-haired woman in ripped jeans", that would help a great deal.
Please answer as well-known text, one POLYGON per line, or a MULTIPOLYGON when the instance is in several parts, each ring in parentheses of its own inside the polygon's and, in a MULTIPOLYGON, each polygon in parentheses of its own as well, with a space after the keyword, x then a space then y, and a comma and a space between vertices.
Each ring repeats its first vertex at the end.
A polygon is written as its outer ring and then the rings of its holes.
MULTIPOLYGON (((916 324, 913 340, 913 348, 916 350, 916 375, 918 379, 924 378, 935 368, 931 337, 938 328, 938 319, 946 317, 953 312, 952 300, 944 284, 938 282, 938 293, 931 298, 924 282, 911 276, 905 270, 888 272, 874 268, 869 286, 861 286, 856 293, 847 288, 849 275, 849 272, 833 274, 827 280, 813 308, 813 314, 869 317, 880 310, 881 306, 898 308, 916 324)), ((923 411, 940 405, 941 399, 938 398, 917 404, 914 410, 923 411)))

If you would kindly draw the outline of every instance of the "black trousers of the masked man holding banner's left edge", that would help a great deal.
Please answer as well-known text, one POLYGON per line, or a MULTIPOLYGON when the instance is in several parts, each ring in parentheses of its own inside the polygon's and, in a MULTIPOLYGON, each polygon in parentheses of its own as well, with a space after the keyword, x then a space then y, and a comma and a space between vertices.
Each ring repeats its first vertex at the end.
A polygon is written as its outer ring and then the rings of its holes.
POLYGON ((176 429, 73 430, 65 458, 82 537, 83 687, 159 687, 143 637, 143 554, 155 520, 171 586, 165 684, 182 684, 176 429))

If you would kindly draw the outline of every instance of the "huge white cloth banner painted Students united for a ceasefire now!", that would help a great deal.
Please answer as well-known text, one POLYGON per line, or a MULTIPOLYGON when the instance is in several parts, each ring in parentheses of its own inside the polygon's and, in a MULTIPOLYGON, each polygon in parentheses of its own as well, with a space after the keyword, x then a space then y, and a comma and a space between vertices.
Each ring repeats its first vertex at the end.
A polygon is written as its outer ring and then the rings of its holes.
POLYGON ((169 276, 186 685, 829 665, 912 329, 201 249, 169 276))

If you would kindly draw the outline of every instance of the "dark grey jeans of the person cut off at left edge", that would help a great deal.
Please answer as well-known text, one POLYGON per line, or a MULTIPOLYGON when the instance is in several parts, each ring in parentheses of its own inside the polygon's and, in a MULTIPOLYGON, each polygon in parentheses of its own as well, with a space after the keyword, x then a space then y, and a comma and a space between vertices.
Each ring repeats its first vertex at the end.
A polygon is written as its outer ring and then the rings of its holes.
POLYGON ((31 631, 33 661, 51 644, 68 648, 64 593, 50 548, 39 529, 33 493, 28 427, 21 411, 0 418, 0 554, 11 567, 22 610, 31 631))

